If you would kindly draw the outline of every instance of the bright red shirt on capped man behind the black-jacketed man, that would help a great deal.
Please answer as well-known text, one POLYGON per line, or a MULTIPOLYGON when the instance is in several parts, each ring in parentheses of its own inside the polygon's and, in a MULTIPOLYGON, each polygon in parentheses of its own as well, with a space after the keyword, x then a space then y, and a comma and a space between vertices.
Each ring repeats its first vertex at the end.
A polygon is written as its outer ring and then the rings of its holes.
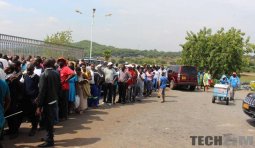
POLYGON ((65 80, 74 73, 69 67, 64 66, 60 69, 60 80, 62 84, 62 90, 69 90, 69 82, 65 82, 65 80))

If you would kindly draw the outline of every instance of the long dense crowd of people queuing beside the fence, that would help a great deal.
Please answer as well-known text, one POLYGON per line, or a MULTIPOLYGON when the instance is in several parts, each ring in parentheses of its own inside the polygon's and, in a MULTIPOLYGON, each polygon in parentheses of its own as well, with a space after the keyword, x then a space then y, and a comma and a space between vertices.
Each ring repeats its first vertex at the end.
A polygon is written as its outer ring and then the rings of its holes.
POLYGON ((69 114, 115 103, 140 102, 153 91, 165 101, 167 72, 164 66, 86 63, 64 58, 27 58, 0 54, 1 137, 18 137, 23 121, 31 122, 29 136, 45 129, 39 147, 54 145, 53 126, 69 114), (8 130, 3 131, 5 120, 8 130))

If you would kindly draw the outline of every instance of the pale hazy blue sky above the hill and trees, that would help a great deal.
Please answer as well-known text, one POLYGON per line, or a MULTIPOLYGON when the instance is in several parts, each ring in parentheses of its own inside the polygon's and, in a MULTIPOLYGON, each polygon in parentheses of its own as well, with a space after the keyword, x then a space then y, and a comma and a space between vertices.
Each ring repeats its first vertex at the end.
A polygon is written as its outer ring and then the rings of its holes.
POLYGON ((90 40, 93 8, 93 41, 104 45, 181 51, 186 32, 203 27, 235 27, 255 42, 254 0, 0 0, 0 33, 44 40, 71 30, 75 42, 90 40))

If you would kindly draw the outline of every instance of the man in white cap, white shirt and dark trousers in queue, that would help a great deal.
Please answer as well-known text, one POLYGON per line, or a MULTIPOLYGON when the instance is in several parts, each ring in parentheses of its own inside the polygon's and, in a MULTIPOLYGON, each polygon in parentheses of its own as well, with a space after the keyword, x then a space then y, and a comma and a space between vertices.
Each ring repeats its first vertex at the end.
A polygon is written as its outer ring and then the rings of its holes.
POLYGON ((112 95, 113 95, 113 84, 116 79, 114 77, 116 75, 116 71, 113 69, 113 63, 109 62, 107 67, 104 68, 105 75, 105 87, 104 87, 104 100, 103 103, 108 103, 108 105, 112 104, 112 95), (107 97, 107 101, 106 101, 107 97))

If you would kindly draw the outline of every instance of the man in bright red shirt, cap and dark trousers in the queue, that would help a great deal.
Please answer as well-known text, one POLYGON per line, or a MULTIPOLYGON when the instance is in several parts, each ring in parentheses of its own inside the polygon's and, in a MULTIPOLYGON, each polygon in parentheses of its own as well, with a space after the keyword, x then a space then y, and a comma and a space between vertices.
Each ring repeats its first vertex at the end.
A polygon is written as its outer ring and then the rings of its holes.
POLYGON ((67 120, 68 116, 68 98, 69 98, 69 80, 75 76, 73 70, 67 66, 67 62, 64 58, 57 60, 59 65, 59 73, 62 84, 62 97, 59 100, 59 118, 60 120, 67 120))

